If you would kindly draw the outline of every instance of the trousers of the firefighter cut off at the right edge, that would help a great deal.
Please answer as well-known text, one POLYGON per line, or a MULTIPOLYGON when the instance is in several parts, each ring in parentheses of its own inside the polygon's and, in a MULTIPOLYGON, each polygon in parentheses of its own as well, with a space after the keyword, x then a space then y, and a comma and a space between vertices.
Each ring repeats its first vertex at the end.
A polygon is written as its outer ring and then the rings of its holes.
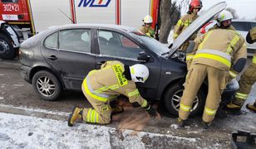
POLYGON ((245 100, 247 99, 252 86, 256 81, 256 64, 252 63, 249 68, 245 70, 244 74, 239 80, 239 90, 234 96, 232 103, 243 106, 245 100))

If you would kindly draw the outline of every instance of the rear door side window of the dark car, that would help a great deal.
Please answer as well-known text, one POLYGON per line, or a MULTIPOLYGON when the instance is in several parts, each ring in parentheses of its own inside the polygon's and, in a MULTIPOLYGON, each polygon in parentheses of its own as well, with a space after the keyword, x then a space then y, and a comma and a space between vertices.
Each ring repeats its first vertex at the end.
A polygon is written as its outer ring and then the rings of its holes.
POLYGON ((63 30, 59 34, 59 48, 78 52, 91 52, 91 30, 63 30))

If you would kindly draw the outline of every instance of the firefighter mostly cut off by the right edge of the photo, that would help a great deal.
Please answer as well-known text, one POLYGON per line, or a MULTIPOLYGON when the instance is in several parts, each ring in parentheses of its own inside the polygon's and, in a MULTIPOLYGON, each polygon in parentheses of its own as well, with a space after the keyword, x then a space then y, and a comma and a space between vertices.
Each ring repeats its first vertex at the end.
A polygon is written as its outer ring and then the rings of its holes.
MULTIPOLYGON (((249 44, 253 44, 256 42, 256 27, 251 29, 246 36, 246 41, 249 44)), ((244 105, 245 100, 248 98, 250 90, 254 85, 256 80, 256 54, 254 54, 253 62, 249 65, 249 68, 245 70, 244 74, 241 76, 239 80, 239 90, 234 96, 234 100, 227 105, 227 109, 229 109, 233 113, 239 113, 240 109, 244 105)), ((249 108, 256 112, 256 100, 254 104, 247 104, 246 108, 249 108)))

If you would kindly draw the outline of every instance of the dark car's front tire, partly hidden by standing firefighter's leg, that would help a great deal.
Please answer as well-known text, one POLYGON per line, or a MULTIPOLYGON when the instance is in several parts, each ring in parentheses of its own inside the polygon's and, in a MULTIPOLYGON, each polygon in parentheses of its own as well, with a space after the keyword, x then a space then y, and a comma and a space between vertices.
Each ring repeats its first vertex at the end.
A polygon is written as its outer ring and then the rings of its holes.
MULTIPOLYGON (((167 89, 167 91, 165 92, 164 103, 165 103, 165 108, 169 114, 176 117, 179 116, 180 98, 183 94, 183 91, 184 91, 183 86, 180 86, 179 84, 175 84, 171 86, 169 89, 167 89)), ((201 89, 199 89, 196 99, 194 100, 193 108, 190 115, 197 115, 199 113, 202 113, 204 109, 204 103, 205 103, 204 93, 202 92, 201 89)))

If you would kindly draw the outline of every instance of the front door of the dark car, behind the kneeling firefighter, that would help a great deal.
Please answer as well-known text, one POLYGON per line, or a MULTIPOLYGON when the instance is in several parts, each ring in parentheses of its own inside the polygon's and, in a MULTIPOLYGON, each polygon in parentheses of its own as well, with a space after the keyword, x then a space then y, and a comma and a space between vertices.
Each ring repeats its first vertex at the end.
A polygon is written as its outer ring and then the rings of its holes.
POLYGON ((140 52, 150 55, 151 62, 143 63, 149 68, 150 76, 145 84, 137 83, 136 85, 145 99, 154 99, 160 80, 160 62, 155 55, 135 42, 135 39, 117 31, 98 30, 96 38, 97 69, 100 69, 101 64, 107 60, 119 60, 125 65, 140 64, 142 61, 137 60, 140 52))

